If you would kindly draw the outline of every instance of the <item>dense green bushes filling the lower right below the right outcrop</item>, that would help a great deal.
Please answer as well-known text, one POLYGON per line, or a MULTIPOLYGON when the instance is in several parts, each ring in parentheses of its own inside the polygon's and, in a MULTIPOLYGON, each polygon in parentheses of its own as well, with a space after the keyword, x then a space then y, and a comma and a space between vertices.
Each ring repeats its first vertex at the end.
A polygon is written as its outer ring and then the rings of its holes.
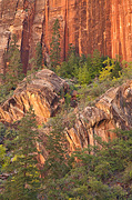
POLYGON ((131 184, 126 184, 125 189, 125 183, 132 179, 132 130, 116 130, 116 134, 118 138, 109 142, 95 137, 98 146, 73 152, 72 168, 55 179, 50 177, 45 197, 68 200, 131 199, 131 184), (121 173, 125 177, 124 182, 121 173))

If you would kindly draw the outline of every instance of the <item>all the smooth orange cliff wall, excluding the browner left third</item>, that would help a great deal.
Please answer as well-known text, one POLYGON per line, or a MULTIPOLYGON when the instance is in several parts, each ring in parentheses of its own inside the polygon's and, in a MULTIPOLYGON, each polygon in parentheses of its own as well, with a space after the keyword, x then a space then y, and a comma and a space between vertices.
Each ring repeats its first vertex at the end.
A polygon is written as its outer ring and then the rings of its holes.
POLYGON ((132 61, 132 0, 49 0, 45 4, 44 42, 49 48, 54 19, 61 23, 62 58, 68 44, 77 51, 132 61))

